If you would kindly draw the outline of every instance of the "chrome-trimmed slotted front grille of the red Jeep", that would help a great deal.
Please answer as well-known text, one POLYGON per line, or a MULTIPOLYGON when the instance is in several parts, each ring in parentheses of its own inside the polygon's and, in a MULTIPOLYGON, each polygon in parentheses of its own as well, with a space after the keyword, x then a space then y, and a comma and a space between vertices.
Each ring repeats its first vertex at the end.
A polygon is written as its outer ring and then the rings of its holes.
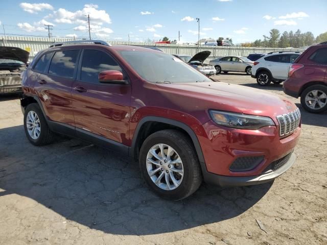
POLYGON ((298 108, 287 114, 276 116, 279 124, 279 136, 291 134, 299 126, 300 118, 301 114, 298 108))

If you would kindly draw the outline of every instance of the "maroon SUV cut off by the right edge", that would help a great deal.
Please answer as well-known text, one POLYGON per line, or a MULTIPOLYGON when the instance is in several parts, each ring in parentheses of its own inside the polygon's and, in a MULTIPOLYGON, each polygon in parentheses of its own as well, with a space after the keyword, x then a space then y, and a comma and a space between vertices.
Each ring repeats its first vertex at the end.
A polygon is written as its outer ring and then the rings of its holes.
POLYGON ((309 47, 289 68, 284 92, 309 112, 327 110, 327 42, 309 47))

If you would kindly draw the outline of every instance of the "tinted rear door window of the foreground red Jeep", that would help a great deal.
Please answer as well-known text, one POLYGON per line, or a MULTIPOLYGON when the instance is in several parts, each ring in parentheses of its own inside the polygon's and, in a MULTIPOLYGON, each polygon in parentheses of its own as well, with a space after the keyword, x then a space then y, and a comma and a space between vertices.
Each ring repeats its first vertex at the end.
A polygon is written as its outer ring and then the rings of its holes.
POLYGON ((74 78, 79 52, 79 50, 56 52, 50 64, 49 74, 64 78, 74 78))

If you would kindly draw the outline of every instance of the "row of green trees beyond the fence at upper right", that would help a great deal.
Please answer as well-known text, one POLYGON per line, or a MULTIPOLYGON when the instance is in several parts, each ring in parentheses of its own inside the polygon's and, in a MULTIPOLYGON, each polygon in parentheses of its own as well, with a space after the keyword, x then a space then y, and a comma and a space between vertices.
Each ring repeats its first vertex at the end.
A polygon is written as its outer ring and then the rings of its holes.
POLYGON ((243 47, 303 47, 311 46, 314 43, 327 41, 327 32, 321 33, 314 37, 312 32, 301 33, 298 29, 296 32, 283 32, 277 29, 271 29, 269 36, 263 35, 263 39, 256 39, 254 42, 241 43, 243 47))

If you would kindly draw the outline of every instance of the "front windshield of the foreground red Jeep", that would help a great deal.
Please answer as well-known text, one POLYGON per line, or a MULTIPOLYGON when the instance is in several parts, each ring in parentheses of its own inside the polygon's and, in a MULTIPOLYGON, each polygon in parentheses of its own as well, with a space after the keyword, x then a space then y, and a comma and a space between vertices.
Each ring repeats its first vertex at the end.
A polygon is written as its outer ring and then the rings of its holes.
POLYGON ((139 76, 151 83, 211 82, 192 66, 162 52, 120 51, 139 76))

